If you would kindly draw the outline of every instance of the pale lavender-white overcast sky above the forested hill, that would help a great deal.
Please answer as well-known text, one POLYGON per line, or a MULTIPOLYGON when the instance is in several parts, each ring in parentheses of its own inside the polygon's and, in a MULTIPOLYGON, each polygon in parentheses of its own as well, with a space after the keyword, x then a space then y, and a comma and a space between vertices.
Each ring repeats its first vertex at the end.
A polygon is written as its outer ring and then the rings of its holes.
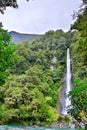
POLYGON ((20 33, 43 34, 49 30, 68 31, 72 14, 81 0, 18 0, 19 8, 7 8, 0 14, 3 28, 20 33))

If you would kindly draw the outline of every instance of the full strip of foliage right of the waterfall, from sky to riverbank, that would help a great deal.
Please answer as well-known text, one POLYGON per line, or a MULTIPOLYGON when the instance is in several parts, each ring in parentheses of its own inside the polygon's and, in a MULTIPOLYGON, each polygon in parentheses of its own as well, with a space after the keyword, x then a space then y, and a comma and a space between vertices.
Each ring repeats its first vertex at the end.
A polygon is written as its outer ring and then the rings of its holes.
POLYGON ((78 31, 79 40, 72 45, 73 90, 69 111, 87 127, 87 7, 80 10, 72 29, 78 31))

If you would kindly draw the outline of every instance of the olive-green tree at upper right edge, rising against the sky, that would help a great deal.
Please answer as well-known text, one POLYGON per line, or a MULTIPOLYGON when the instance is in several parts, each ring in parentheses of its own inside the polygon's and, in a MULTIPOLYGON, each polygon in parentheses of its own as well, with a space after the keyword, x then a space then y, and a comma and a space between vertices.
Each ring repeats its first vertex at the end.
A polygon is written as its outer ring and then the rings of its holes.
POLYGON ((77 13, 77 19, 71 29, 78 30, 81 40, 79 41, 82 64, 87 65, 87 6, 77 13))

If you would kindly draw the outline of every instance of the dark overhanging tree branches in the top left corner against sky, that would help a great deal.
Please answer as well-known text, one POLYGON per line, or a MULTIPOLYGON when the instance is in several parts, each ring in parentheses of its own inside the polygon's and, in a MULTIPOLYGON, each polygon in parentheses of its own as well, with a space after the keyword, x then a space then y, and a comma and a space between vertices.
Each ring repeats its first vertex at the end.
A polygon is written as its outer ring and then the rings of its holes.
POLYGON ((17 0, 0 0, 0 12, 2 14, 4 13, 4 10, 6 10, 7 7, 18 8, 17 0))

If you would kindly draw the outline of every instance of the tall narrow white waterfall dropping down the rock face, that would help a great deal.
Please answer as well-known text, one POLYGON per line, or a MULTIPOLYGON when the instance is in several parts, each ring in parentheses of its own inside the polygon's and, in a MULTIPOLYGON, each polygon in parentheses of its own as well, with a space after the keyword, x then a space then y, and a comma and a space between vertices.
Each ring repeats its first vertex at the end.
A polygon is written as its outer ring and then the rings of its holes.
POLYGON ((68 106, 71 105, 71 101, 68 97, 69 92, 71 91, 71 63, 70 63, 70 49, 67 49, 67 72, 65 76, 65 84, 64 89, 61 93, 60 99, 60 113, 63 115, 67 115, 68 106))

